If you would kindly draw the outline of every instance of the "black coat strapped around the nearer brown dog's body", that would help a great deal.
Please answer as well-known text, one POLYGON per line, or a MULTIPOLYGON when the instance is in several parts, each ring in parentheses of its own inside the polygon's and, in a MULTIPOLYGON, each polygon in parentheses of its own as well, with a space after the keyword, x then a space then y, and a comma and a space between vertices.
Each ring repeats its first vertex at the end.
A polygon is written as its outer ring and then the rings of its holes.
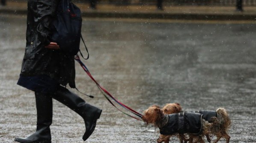
POLYGON ((183 112, 165 115, 168 122, 160 129, 160 134, 200 134, 202 132, 202 114, 183 112))

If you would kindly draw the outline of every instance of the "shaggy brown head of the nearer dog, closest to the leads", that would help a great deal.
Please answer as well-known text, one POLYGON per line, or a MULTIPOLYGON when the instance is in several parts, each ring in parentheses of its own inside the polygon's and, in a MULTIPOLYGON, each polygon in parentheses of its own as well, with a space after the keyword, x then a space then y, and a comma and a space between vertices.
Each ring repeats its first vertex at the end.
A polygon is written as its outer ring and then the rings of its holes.
POLYGON ((160 123, 164 117, 164 112, 156 105, 150 106, 143 112, 143 114, 142 120, 147 124, 152 123, 156 125, 157 123, 160 123))

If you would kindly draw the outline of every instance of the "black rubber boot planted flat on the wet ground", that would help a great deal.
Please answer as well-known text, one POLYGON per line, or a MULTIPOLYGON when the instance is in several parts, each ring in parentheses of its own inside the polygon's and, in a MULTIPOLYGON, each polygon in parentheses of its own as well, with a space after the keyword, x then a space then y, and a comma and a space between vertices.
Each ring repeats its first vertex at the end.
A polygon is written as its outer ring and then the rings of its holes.
POLYGON ((39 92, 35 92, 35 95, 37 110, 36 132, 26 138, 15 138, 14 140, 19 143, 51 143, 52 97, 39 92))

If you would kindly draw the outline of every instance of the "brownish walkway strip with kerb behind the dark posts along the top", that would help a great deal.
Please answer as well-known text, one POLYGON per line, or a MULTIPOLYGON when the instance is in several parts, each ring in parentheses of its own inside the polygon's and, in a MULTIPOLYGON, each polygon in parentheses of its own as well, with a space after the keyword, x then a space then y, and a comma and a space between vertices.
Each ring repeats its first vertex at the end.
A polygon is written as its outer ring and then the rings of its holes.
MULTIPOLYGON (((84 17, 122 17, 179 20, 256 20, 256 6, 244 7, 243 12, 235 11, 235 6, 117 6, 98 4, 97 9, 89 8, 87 3, 77 3, 84 17)), ((7 2, 0 7, 0 14, 26 14, 26 2, 7 2)))

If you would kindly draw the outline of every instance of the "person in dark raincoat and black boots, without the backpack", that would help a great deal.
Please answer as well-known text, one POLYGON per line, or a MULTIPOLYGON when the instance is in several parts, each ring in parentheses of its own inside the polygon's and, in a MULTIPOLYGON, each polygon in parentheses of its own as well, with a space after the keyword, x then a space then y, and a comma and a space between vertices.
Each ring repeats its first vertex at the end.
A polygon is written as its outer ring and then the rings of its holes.
POLYGON ((65 88, 67 84, 76 87, 74 56, 66 54, 49 38, 58 1, 28 0, 27 43, 17 84, 35 92, 37 124, 36 132, 30 136, 15 138, 19 143, 51 143, 52 98, 83 118, 83 140, 92 134, 101 115, 101 109, 65 88))

